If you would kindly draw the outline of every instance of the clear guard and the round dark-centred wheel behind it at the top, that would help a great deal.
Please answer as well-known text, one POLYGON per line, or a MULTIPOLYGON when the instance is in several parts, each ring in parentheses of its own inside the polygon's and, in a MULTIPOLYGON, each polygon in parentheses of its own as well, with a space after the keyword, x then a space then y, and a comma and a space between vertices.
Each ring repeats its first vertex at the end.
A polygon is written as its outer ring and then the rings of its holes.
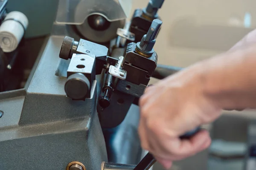
POLYGON ((57 24, 67 24, 84 39, 108 43, 123 28, 132 0, 60 0, 57 24), (113 10, 114 9, 114 10, 113 10))

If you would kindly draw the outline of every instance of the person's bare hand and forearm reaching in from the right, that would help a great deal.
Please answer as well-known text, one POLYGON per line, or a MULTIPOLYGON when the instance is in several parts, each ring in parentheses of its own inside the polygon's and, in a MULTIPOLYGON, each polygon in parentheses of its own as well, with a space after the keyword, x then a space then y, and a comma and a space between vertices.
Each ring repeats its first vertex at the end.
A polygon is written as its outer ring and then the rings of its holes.
POLYGON ((206 130, 179 136, 213 122, 222 110, 256 108, 256 30, 229 51, 195 63, 146 88, 140 98, 142 147, 166 169, 211 144, 206 130))

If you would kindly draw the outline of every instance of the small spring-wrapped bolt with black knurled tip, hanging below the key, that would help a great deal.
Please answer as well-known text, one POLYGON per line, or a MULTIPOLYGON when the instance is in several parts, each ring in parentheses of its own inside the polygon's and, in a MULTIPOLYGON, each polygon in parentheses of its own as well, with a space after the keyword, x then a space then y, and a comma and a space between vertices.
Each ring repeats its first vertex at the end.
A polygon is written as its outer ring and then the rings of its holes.
POLYGON ((105 80, 105 86, 102 88, 103 96, 99 99, 99 105, 102 108, 108 108, 110 105, 110 98, 111 94, 113 92, 113 77, 110 74, 107 74, 106 80, 105 80))

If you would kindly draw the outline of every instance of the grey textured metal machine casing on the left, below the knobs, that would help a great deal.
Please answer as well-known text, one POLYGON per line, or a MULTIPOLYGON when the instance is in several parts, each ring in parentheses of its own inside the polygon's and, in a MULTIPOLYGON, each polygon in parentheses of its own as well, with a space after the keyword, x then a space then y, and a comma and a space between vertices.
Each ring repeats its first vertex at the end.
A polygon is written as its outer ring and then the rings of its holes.
POLYGON ((90 99, 72 101, 63 88, 66 78, 56 76, 62 41, 49 38, 25 89, 0 94, 1 170, 63 170, 71 161, 94 170, 107 161, 96 81, 90 99))

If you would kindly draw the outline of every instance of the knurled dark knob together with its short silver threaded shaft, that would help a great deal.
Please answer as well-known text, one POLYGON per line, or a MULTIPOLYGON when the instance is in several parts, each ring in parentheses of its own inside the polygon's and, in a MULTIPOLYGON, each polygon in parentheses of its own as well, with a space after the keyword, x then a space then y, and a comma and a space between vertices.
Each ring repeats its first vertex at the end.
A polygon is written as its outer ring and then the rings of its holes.
POLYGON ((72 57, 73 53, 76 52, 78 46, 78 42, 75 41, 71 37, 65 37, 62 45, 61 45, 61 51, 59 54, 59 57, 62 59, 69 59, 72 57))

